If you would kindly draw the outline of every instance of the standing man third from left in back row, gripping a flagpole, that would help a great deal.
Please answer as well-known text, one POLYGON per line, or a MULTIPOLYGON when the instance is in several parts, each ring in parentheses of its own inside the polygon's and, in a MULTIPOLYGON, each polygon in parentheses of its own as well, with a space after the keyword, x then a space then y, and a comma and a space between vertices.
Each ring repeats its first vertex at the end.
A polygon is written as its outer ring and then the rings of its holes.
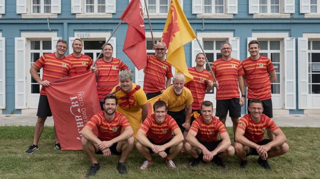
POLYGON ((98 68, 97 90, 101 110, 103 110, 104 97, 119 84, 119 72, 129 69, 119 58, 112 57, 113 47, 110 43, 102 45, 102 53, 103 57, 96 63, 98 68))

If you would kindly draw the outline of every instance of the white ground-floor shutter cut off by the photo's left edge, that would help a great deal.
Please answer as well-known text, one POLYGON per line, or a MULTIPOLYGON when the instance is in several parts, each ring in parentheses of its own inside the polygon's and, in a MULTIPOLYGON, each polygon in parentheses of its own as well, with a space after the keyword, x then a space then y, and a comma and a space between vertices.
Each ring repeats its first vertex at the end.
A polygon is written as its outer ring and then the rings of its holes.
POLYGON ((0 37, 0 109, 5 108, 5 38, 0 37))

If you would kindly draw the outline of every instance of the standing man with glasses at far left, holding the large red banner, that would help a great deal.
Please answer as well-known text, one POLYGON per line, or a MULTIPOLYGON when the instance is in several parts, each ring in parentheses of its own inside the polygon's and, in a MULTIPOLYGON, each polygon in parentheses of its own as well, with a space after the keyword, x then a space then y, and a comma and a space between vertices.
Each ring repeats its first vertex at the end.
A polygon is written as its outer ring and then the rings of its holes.
MULTIPOLYGON (((58 40, 56 49, 57 52, 55 53, 43 54, 30 68, 30 74, 32 78, 36 80, 37 83, 39 83, 42 87, 40 91, 39 106, 37 112, 38 121, 35 126, 33 143, 29 147, 29 149, 25 151, 26 154, 32 154, 34 151, 39 149, 38 143, 43 131, 44 122, 48 116, 52 116, 45 91, 46 87, 50 86, 50 82, 52 81, 74 74, 72 61, 65 58, 64 56, 68 49, 67 42, 65 40, 58 40), (42 79, 38 74, 41 68, 43 68, 42 79)), ((54 148, 60 150, 60 143, 56 134, 56 130, 55 137, 56 144, 54 148)))

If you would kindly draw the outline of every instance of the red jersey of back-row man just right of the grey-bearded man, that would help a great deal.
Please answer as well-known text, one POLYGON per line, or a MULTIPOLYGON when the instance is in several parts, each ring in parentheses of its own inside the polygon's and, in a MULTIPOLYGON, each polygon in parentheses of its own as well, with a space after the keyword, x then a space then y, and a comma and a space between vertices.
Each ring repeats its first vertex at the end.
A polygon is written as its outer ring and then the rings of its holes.
POLYGON ((202 72, 198 72, 196 67, 190 67, 188 68, 188 71, 193 76, 193 80, 189 81, 184 86, 191 91, 193 97, 192 109, 200 109, 201 103, 204 100, 207 81, 213 81, 213 77, 211 73, 205 69, 203 69, 202 72))

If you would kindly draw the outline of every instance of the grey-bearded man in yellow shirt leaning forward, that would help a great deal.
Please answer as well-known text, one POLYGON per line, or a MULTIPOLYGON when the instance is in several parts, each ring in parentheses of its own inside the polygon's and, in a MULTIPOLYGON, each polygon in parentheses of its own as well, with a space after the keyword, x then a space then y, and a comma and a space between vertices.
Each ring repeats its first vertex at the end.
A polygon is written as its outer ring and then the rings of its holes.
POLYGON ((177 122, 182 133, 189 131, 193 98, 191 91, 184 87, 185 77, 181 73, 173 76, 173 86, 162 92, 161 100, 168 106, 168 114, 177 122))

